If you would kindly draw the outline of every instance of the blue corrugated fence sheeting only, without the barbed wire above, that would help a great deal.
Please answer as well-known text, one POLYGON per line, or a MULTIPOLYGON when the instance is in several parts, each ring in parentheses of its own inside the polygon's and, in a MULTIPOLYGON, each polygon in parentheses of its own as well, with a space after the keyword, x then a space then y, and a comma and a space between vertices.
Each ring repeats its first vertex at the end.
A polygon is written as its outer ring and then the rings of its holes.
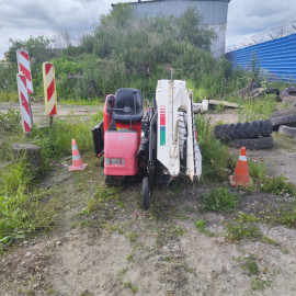
POLYGON ((296 34, 228 53, 226 58, 249 70, 255 60, 271 80, 296 81, 296 34))

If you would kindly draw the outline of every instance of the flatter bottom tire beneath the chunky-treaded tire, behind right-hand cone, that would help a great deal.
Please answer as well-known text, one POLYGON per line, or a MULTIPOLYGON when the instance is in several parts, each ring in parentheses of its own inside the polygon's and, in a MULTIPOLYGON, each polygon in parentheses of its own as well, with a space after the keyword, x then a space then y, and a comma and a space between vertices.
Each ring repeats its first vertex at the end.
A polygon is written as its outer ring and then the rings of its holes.
POLYGON ((269 149, 273 147, 273 137, 254 138, 254 139, 232 139, 227 145, 235 148, 246 147, 251 150, 269 149))

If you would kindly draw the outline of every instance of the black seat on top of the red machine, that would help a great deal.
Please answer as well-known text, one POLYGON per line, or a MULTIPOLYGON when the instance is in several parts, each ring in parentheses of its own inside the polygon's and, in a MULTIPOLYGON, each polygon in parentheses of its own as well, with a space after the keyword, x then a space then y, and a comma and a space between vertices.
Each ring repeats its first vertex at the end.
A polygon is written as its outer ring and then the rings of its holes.
POLYGON ((115 93, 115 109, 128 107, 129 112, 114 111, 113 118, 121 122, 141 121, 143 96, 137 89, 118 89, 115 93))

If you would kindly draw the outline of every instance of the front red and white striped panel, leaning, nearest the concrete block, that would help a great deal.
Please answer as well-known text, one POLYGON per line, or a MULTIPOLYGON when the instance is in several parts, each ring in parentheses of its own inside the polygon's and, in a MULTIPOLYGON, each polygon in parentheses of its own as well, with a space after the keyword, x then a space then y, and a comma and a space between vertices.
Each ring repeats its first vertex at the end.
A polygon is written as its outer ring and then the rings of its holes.
POLYGON ((26 88, 26 76, 23 73, 16 75, 19 99, 22 114, 22 125, 24 134, 30 134, 32 132, 32 119, 31 119, 31 107, 30 98, 26 88))

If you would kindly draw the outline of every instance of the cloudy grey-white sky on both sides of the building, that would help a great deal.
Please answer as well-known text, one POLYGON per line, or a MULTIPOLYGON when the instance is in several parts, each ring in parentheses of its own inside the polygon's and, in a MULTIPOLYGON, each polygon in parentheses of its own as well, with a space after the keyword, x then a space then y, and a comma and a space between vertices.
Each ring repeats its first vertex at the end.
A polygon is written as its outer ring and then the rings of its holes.
MULTIPOLYGON (((77 38, 91 31, 111 3, 128 0, 0 0, 0 58, 12 39, 27 39, 68 29, 77 38)), ((296 0, 231 0, 227 45, 296 20, 296 0)))

